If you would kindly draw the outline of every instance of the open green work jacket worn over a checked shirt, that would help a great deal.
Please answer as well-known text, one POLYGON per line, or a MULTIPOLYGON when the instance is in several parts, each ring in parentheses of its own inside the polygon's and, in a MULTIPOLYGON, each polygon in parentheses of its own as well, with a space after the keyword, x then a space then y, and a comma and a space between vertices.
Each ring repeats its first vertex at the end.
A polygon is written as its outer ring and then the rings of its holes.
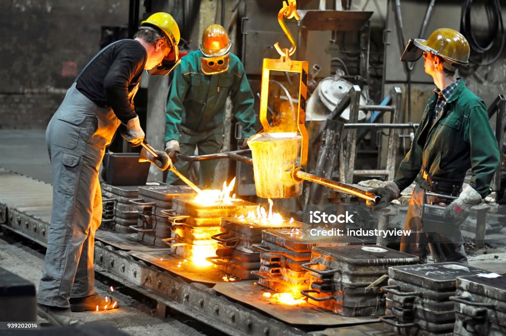
POLYGON ((436 102, 434 94, 394 182, 400 190, 413 181, 430 190, 421 169, 432 178, 463 181, 471 168, 470 185, 485 197, 499 166, 499 150, 485 104, 466 88, 463 80, 447 100, 441 116, 432 123, 436 102))

